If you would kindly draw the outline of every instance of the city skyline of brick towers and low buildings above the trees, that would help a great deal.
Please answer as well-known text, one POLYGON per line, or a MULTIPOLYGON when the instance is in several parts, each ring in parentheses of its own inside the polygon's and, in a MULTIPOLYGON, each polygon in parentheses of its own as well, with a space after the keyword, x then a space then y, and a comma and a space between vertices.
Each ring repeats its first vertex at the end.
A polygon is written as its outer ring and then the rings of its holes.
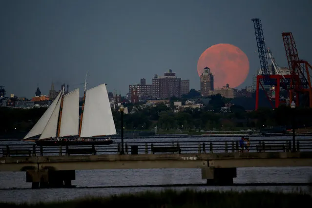
MULTIPOLYGON (((288 68, 285 67, 283 70, 284 73, 287 73, 288 68)), ((234 98, 237 92, 243 94, 245 92, 252 92, 252 89, 254 88, 253 85, 255 84, 253 79, 253 83, 251 86, 241 88, 241 90, 229 87, 229 83, 223 85, 222 87, 214 87, 213 77, 214 76, 210 72, 210 69, 208 67, 205 67, 204 72, 200 76, 200 89, 195 89, 196 91, 200 92, 201 96, 208 97, 215 94, 221 94, 223 97, 226 98, 234 98), (228 91, 231 91, 232 94, 229 95, 228 91)), ((39 86, 37 86, 34 96, 24 97, 17 96, 14 93, 10 93, 6 94, 6 96, 4 97, 8 99, 17 98, 16 101, 43 102, 42 104, 45 104, 46 101, 53 101, 55 97, 57 97, 58 93, 62 91, 63 87, 65 89, 65 94, 77 89, 77 87, 74 89, 69 89, 69 85, 65 83, 62 83, 61 87, 58 89, 58 87, 55 88, 54 83, 51 83, 51 87, 47 94, 45 92, 42 93, 39 86)), ((189 87, 189 80, 182 80, 181 78, 177 77, 176 73, 173 72, 171 69, 165 72, 164 76, 159 76, 155 74, 151 84, 146 83, 145 78, 141 78, 140 83, 129 84, 128 87, 129 91, 125 95, 121 95, 121 93, 118 93, 116 90, 107 92, 109 96, 124 97, 131 103, 137 103, 139 101, 168 99, 170 97, 181 98, 182 95, 187 95, 191 89, 194 89, 189 87), (135 101, 133 101, 132 95, 135 95, 135 101)), ((1 95, 1 97, 3 96, 1 95)), ((82 99, 83 95, 80 96, 80 98, 82 99)))

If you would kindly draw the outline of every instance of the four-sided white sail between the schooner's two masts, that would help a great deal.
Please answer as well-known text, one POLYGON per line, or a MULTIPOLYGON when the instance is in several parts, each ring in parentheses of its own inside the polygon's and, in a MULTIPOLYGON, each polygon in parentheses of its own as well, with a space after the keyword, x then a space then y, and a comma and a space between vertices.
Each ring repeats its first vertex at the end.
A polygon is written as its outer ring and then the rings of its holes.
POLYGON ((63 98, 60 137, 79 134, 79 88, 63 98))

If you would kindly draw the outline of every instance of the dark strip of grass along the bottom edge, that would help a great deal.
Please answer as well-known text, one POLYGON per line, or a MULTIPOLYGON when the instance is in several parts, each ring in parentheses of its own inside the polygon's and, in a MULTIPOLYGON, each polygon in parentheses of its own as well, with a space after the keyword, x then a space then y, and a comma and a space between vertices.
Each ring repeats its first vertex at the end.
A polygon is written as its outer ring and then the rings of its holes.
POLYGON ((1 208, 294 208, 311 206, 312 196, 270 191, 165 190, 108 197, 84 197, 38 204, 0 203, 1 208))

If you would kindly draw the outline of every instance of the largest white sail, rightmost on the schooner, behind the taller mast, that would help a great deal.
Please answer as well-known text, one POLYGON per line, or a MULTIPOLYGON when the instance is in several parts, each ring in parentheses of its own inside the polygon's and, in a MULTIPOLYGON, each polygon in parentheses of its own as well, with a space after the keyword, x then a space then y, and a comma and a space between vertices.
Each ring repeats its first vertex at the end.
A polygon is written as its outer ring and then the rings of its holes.
POLYGON ((100 84, 85 93, 80 137, 116 134, 105 84, 100 84))

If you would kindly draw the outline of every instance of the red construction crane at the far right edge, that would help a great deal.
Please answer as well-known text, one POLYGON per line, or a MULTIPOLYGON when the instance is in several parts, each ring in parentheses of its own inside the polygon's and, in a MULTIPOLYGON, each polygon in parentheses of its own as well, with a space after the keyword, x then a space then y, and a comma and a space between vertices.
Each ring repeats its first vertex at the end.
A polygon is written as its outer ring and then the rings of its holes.
POLYGON ((299 106, 299 95, 309 93, 309 106, 312 107, 312 87, 309 74, 309 68, 312 66, 309 62, 300 60, 296 43, 291 32, 282 33, 288 66, 290 69, 291 79, 289 85, 290 103, 296 96, 295 103, 299 106))

